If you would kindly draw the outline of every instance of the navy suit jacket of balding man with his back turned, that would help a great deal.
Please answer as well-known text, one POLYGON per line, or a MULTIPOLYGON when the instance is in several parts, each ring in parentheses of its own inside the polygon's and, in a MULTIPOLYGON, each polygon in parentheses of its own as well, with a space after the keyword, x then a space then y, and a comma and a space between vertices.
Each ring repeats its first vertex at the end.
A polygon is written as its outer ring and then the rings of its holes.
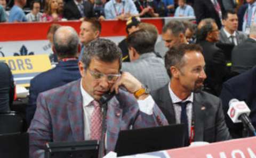
POLYGON ((77 63, 78 60, 60 61, 55 68, 37 75, 30 81, 29 101, 26 107, 28 126, 36 111, 36 99, 39 93, 78 80, 81 77, 77 63))

